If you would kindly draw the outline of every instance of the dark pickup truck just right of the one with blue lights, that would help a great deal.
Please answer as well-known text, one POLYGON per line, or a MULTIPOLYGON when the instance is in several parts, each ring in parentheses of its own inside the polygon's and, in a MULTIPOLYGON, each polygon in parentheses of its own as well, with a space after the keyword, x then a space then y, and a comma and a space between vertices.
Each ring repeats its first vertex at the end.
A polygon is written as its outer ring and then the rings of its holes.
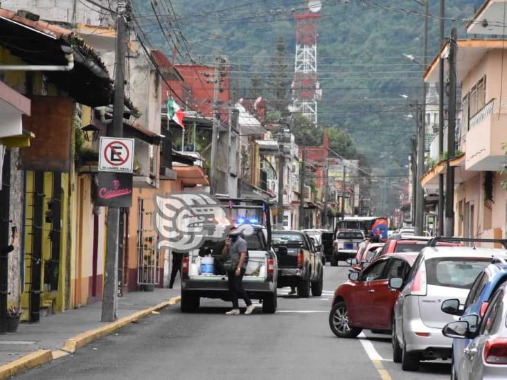
POLYGON ((321 296, 323 264, 308 235, 296 230, 273 231, 273 246, 278 257, 278 287, 297 287, 301 298, 321 296))

